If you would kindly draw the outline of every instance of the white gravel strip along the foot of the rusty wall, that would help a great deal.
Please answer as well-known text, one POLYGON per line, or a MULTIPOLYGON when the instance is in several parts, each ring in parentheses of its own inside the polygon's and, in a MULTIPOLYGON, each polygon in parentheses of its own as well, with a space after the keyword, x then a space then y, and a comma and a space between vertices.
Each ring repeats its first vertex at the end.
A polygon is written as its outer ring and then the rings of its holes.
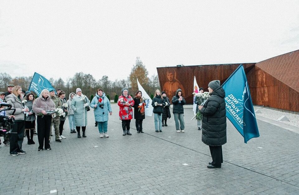
POLYGON ((261 116, 261 117, 265 117, 265 118, 277 121, 282 115, 284 115, 289 119, 289 121, 279 121, 279 122, 299 127, 299 115, 298 114, 292 114, 292 113, 288 113, 288 112, 281 112, 281 111, 272 110, 269 108, 254 106, 254 111, 257 111, 258 109, 260 109, 261 113, 255 113, 256 116, 261 116))

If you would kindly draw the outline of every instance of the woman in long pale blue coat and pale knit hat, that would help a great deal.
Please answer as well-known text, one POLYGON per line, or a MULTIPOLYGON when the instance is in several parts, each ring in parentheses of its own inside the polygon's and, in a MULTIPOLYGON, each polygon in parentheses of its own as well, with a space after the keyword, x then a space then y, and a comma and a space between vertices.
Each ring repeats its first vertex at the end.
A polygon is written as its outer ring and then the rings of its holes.
POLYGON ((89 106, 89 100, 82 94, 80 88, 76 89, 76 94, 72 100, 71 108, 74 110, 74 121, 76 130, 78 131, 78 138, 81 138, 80 127, 82 127, 82 136, 86 137, 85 130, 87 126, 87 107, 89 106))

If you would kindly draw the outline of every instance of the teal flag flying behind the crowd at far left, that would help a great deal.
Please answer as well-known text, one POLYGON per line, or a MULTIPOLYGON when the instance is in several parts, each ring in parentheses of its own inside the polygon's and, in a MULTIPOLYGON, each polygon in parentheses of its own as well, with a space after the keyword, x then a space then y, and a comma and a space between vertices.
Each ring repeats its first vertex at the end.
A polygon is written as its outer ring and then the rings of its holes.
POLYGON ((50 91, 54 89, 54 87, 52 87, 51 83, 45 77, 38 73, 34 73, 28 91, 34 91, 38 96, 40 96, 40 92, 43 89, 48 89, 50 91))

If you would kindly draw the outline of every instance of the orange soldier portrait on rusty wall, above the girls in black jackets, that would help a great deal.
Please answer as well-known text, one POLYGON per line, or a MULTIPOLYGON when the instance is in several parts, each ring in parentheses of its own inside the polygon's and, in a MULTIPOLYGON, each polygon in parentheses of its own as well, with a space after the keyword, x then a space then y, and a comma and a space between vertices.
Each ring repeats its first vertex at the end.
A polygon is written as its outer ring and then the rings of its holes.
POLYGON ((167 82, 164 83, 162 91, 168 94, 169 97, 172 97, 176 94, 178 89, 182 90, 182 93, 185 94, 185 89, 181 82, 177 79, 177 74, 173 68, 168 68, 166 72, 167 82))

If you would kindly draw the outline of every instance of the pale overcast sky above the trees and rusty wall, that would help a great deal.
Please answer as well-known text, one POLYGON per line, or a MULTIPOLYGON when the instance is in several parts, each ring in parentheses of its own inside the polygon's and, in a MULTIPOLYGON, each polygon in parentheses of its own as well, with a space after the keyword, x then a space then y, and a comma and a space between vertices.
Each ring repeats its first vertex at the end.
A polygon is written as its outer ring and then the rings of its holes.
POLYGON ((298 50, 299 1, 0 1, 12 77, 125 79, 157 67, 259 62, 298 50))

